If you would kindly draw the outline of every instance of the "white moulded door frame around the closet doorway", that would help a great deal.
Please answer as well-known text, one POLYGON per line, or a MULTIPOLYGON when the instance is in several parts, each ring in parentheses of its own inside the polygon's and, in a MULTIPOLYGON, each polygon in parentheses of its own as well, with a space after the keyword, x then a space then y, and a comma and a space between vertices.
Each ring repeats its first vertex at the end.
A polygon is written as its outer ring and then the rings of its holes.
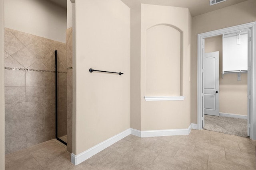
POLYGON ((198 34, 197 36, 197 127, 198 130, 203 128, 203 115, 204 115, 204 39, 208 37, 213 37, 217 35, 235 33, 242 29, 251 30, 251 63, 248 65, 248 70, 250 70, 250 82, 248 88, 250 88, 250 139, 256 140, 256 22, 245 23, 242 25, 236 25, 233 27, 227 27, 223 29, 218 29, 215 31, 210 31, 206 33, 198 34))

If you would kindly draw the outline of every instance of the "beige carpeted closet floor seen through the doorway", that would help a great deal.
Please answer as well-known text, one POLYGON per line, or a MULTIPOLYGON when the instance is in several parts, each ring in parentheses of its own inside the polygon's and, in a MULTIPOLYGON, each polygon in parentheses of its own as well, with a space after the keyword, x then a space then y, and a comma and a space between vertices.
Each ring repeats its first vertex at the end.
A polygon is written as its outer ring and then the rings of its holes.
POLYGON ((204 115, 204 129, 247 137, 247 119, 204 115))

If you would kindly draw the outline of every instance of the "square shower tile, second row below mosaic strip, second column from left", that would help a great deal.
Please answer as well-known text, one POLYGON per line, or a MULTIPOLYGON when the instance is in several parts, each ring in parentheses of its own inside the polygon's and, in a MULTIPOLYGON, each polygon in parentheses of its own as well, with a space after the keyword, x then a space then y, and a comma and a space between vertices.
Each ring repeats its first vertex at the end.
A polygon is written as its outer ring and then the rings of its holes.
POLYGON ((26 102, 44 100, 44 86, 26 86, 26 102))

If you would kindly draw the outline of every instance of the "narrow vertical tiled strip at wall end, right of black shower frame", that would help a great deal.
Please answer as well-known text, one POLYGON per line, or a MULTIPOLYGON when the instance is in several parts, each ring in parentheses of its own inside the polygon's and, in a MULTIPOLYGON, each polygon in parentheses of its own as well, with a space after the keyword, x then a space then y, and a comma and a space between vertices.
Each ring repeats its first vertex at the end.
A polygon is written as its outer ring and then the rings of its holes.
POLYGON ((67 150, 72 153, 72 28, 66 31, 67 43, 67 150))

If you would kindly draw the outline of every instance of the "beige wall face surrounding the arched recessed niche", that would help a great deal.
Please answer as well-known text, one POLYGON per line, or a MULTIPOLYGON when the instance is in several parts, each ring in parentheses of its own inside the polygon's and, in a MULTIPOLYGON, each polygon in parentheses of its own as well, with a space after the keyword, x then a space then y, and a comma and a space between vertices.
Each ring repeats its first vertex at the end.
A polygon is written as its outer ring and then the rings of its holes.
MULTIPOLYGON (((160 130, 160 129, 182 129, 190 125, 190 29, 191 16, 188 8, 178 8, 169 6, 156 6, 142 4, 141 9, 141 130, 160 130), (180 84, 182 95, 186 96, 184 101, 154 101, 146 102, 146 30, 154 25, 172 25, 182 31, 181 49, 181 76, 180 82, 176 82, 171 72, 168 74, 172 83, 180 84)), ((174 48, 174 47, 170 47, 174 48)), ((159 55, 162 55, 161 53, 159 55)), ((174 56, 170 56, 174 57, 174 56)), ((157 63, 156 63, 157 64, 157 63)), ((175 76, 174 76, 175 77, 175 76)), ((179 81, 179 80, 178 80, 179 81)), ((161 82, 164 83, 164 80, 161 82)), ((152 94, 159 96, 159 94, 152 94)), ((168 94, 166 94, 168 96, 168 94)))

